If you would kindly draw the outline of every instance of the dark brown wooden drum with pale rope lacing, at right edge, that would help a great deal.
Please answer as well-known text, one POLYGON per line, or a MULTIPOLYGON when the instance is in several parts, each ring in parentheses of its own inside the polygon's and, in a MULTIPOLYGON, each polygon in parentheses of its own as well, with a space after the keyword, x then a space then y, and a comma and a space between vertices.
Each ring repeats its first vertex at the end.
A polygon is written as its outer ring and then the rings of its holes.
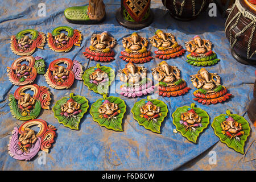
POLYGON ((227 12, 225 34, 233 57, 242 64, 256 65, 256 6, 236 0, 227 12))

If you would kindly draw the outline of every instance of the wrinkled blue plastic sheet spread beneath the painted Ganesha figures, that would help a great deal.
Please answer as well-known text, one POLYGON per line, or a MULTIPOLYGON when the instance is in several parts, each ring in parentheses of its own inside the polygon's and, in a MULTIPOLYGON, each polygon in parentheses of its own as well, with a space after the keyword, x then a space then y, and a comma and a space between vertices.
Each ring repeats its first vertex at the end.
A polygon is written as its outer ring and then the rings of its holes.
MULTIPOLYGON (((182 78, 187 81, 188 87, 192 88, 183 96, 158 99, 164 101, 168 106, 168 115, 161 127, 161 134, 152 133, 150 130, 139 126, 133 119, 131 108, 134 103, 142 98, 127 99, 114 92, 115 87, 118 90, 119 81, 111 86, 110 95, 121 97, 126 105, 126 114, 123 118, 123 131, 116 132, 101 127, 94 122, 88 112, 81 119, 80 130, 71 130, 60 124, 53 116, 52 110, 43 110, 39 119, 44 119, 49 124, 57 127, 56 142, 53 144, 49 154, 46 154, 45 163, 42 158, 35 157, 30 162, 19 161, 11 158, 8 154, 7 144, 11 131, 22 122, 13 118, 8 106, 8 96, 13 94, 18 88, 9 81, 6 73, 6 67, 10 67, 13 60, 19 56, 11 52, 10 36, 16 35, 18 31, 26 28, 35 28, 47 34, 53 28, 58 26, 70 26, 81 31, 83 40, 81 47, 74 47, 68 53, 57 53, 49 49, 46 44, 45 49, 37 49, 33 56, 41 56, 46 61, 47 67, 51 61, 67 57, 81 61, 85 68, 96 66, 96 61, 88 61, 82 52, 90 46, 90 36, 93 33, 108 31, 117 39, 118 45, 114 48, 115 60, 111 63, 102 63, 112 67, 117 73, 118 69, 124 68, 125 61, 119 59, 121 55, 122 38, 129 36, 134 31, 119 26, 115 20, 115 12, 120 7, 119 1, 105 1, 107 18, 101 24, 96 25, 78 25, 71 24, 65 20, 64 10, 70 6, 84 6, 88 1, 45 1, 46 16, 38 16, 38 4, 41 1, 2 1, 0 8, 0 167, 3 170, 172 170, 189 162, 206 151, 219 141, 214 135, 212 127, 201 133, 197 144, 189 142, 182 137, 180 133, 175 134, 175 126, 172 123, 171 114, 184 105, 191 105, 193 98, 193 85, 190 81, 190 75, 197 73, 199 67, 193 67, 185 62, 185 56, 168 60, 168 64, 175 65, 181 69, 182 78)), ((221 60, 217 65, 208 67, 209 72, 218 73, 221 76, 222 84, 226 86, 233 97, 224 103, 217 105, 196 104, 197 107, 204 109, 210 116, 210 123, 213 118, 226 113, 226 109, 240 115, 244 115, 249 121, 246 110, 251 98, 253 97, 253 83, 255 80, 255 67, 246 66, 233 59, 230 53, 229 42, 225 38, 224 24, 225 19, 221 17, 210 18, 208 13, 204 13, 199 18, 191 22, 180 22, 172 19, 161 1, 152 1, 151 9, 154 12, 154 22, 146 28, 137 31, 139 35, 149 38, 154 35, 158 29, 172 32, 176 36, 178 43, 184 46, 187 40, 195 35, 200 35, 204 39, 209 39, 213 44, 213 51, 217 53, 221 60)), ((150 45, 149 49, 154 53, 155 48, 150 45)), ((154 55, 154 54, 153 54, 154 55)), ((187 55, 187 53, 186 53, 187 55)), ((156 67, 161 60, 154 59, 143 64, 150 69, 156 67)), ((150 75, 150 73, 148 73, 150 75)), ((43 75, 39 75, 35 84, 48 86, 43 75)), ((120 84, 119 84, 120 85, 120 84)), ((49 86, 48 86, 49 87, 49 86)), ((51 89, 52 105, 73 92, 80 96, 85 96, 89 100, 89 105, 93 104, 99 98, 100 94, 83 85, 82 81, 75 81, 71 89, 55 90, 51 89)), ((90 109, 90 107, 89 107, 90 109)), ((250 122, 250 121, 249 121, 250 122)), ((255 139, 254 127, 250 122, 252 129, 249 140, 255 139)), ((247 146, 247 143, 246 143, 247 146)), ((245 148, 246 148, 245 146, 245 148)), ((225 146, 226 147, 226 146, 225 146)), ((228 147, 226 147, 227 149, 228 147)), ((227 153, 227 152, 226 152, 227 153)), ((235 151, 228 149, 228 154, 238 155, 235 151)), ((222 152, 218 152, 222 155, 222 152)), ((241 156, 241 155, 239 155, 241 156)), ((203 169, 198 167, 197 169, 203 169)), ((249 168, 250 169, 250 168, 249 168)))

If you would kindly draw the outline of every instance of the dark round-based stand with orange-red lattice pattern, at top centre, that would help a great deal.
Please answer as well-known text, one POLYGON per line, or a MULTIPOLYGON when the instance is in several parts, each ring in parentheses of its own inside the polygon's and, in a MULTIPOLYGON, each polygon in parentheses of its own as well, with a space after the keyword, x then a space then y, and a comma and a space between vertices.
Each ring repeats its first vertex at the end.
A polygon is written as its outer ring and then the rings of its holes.
POLYGON ((154 15, 150 9, 150 0, 120 0, 120 2, 121 8, 118 9, 115 18, 121 26, 139 30, 152 23, 154 15), (138 9, 138 6, 141 9, 138 9))

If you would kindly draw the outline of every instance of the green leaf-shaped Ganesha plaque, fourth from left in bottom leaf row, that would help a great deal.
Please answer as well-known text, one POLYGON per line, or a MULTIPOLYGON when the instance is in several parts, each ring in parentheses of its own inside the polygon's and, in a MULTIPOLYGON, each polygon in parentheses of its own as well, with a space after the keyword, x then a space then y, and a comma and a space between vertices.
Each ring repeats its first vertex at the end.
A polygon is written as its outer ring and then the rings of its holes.
POLYGON ((172 113, 172 118, 174 118, 172 122, 176 126, 177 131, 193 143, 196 143, 200 133, 202 133, 210 123, 207 112, 195 107, 193 103, 190 107, 178 107, 175 112, 172 113))

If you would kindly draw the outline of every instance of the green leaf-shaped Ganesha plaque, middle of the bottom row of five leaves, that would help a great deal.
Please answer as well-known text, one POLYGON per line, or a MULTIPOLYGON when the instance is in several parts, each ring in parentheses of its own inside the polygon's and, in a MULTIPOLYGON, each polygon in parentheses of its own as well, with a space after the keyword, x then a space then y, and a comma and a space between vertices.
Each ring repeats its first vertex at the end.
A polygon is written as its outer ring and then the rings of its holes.
POLYGON ((163 101, 151 100, 150 96, 148 96, 147 99, 136 102, 131 112, 139 125, 155 133, 160 133, 161 123, 167 116, 168 109, 163 101))

